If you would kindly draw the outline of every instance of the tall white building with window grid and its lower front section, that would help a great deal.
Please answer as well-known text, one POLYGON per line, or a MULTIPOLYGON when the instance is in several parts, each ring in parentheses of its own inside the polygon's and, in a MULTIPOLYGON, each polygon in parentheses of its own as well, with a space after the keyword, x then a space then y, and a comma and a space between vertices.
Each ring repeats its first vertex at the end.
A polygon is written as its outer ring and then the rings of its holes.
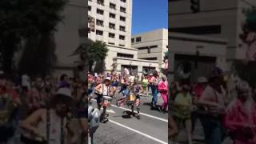
POLYGON ((105 42, 109 49, 106 72, 122 73, 128 68, 140 75, 143 69, 158 70, 157 62, 138 60, 138 50, 131 46, 132 0, 89 0, 88 14, 95 23, 95 30, 88 33, 88 38, 105 42))

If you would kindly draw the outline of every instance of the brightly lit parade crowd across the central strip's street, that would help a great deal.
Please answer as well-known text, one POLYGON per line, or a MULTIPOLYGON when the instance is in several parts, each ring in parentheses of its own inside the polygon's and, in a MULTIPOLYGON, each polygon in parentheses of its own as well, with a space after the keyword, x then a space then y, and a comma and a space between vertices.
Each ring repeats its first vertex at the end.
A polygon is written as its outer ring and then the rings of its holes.
POLYGON ((144 73, 141 77, 134 74, 116 74, 114 72, 107 74, 90 74, 89 78, 89 96, 91 99, 96 99, 98 110, 103 108, 101 122, 108 121, 108 114, 106 114, 107 106, 104 106, 104 99, 118 98, 116 105, 124 106, 125 104, 131 106, 131 112, 140 119, 140 97, 142 95, 149 96, 152 94, 150 102, 151 110, 160 110, 162 112, 168 111, 168 81, 166 75, 160 75, 158 71, 153 73, 144 73), (119 89, 120 88, 120 89, 119 89), (121 98, 118 97, 121 94, 121 98), (158 106, 158 95, 162 97, 162 104, 158 106), (104 97, 105 96, 105 97, 104 97), (134 113, 136 107, 137 113, 134 113))

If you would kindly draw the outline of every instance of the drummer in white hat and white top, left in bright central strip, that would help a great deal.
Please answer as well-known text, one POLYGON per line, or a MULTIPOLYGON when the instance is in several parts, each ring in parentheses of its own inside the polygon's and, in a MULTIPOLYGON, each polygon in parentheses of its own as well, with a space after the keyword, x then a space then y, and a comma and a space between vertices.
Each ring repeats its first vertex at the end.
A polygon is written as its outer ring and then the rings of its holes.
MULTIPOLYGON (((102 107, 102 98, 104 96, 113 96, 113 89, 110 89, 110 81, 111 78, 106 77, 104 79, 104 82, 99 84, 98 86, 95 87, 95 92, 98 95, 97 99, 97 104, 98 104, 98 110, 101 110, 102 107)), ((103 106, 103 112, 101 115, 101 122, 107 122, 108 118, 106 118, 108 114, 106 114, 106 106, 103 106)))

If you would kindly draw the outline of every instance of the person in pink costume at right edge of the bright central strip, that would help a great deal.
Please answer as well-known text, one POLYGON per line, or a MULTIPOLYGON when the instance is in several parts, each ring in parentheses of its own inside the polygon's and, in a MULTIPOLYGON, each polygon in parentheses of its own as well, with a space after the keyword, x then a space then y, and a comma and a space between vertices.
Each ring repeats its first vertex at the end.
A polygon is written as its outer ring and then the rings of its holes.
POLYGON ((158 90, 162 96, 162 111, 166 112, 166 108, 168 105, 168 81, 166 76, 162 76, 162 80, 158 83, 158 90))

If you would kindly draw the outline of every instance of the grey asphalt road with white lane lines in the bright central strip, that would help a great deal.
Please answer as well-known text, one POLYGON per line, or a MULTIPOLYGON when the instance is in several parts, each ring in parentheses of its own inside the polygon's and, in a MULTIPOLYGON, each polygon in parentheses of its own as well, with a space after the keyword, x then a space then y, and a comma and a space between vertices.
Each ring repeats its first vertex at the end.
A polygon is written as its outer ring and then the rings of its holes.
MULTIPOLYGON (((119 95, 118 95, 119 96, 119 95)), ((127 106, 108 107, 109 122, 100 123, 94 134, 94 144, 167 144, 168 143, 168 115, 158 110, 150 110, 149 103, 152 96, 141 97, 141 119, 130 114, 127 106), (125 113, 123 113, 125 112, 125 113)), ((158 104, 162 98, 158 97, 158 104)), ((93 106, 96 102, 93 101, 93 106)), ((136 110, 134 110, 136 111, 136 110)))

